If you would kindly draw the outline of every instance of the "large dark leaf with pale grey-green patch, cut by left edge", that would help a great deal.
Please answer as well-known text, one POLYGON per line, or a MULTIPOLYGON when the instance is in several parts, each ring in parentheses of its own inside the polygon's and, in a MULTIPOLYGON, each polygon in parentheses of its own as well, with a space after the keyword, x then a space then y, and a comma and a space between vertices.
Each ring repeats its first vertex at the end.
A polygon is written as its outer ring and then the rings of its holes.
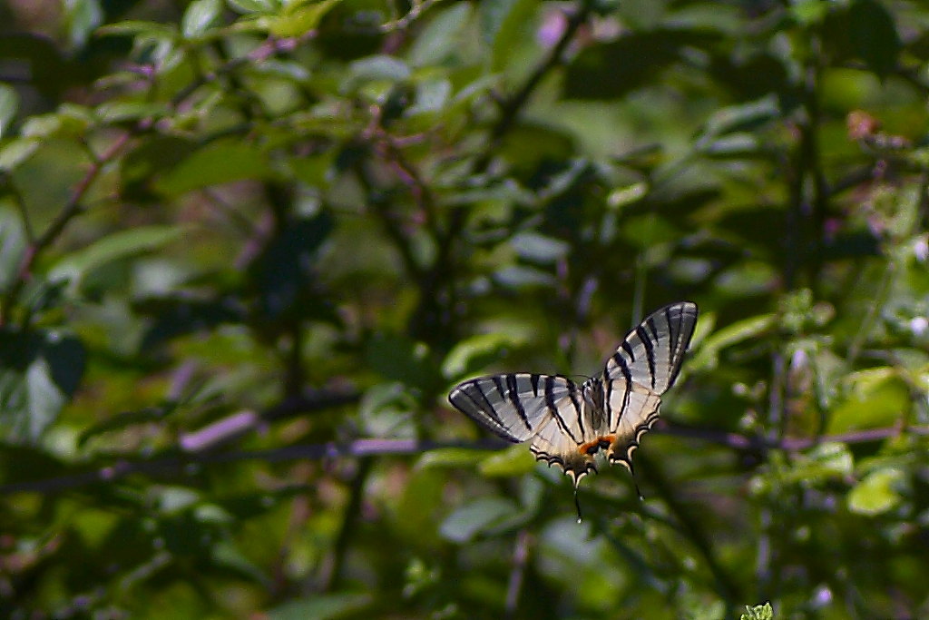
POLYGON ((85 349, 58 331, 0 329, 0 439, 38 442, 84 375, 85 349))

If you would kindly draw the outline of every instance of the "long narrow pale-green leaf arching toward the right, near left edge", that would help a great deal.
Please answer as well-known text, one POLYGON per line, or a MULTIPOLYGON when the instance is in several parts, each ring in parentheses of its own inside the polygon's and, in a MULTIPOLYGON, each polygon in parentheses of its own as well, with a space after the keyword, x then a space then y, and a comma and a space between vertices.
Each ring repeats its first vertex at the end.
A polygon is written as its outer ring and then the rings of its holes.
POLYGON ((93 270, 107 263, 169 244, 188 230, 183 226, 139 226, 128 231, 114 232, 82 250, 63 257, 53 267, 50 280, 67 280, 72 289, 93 270))

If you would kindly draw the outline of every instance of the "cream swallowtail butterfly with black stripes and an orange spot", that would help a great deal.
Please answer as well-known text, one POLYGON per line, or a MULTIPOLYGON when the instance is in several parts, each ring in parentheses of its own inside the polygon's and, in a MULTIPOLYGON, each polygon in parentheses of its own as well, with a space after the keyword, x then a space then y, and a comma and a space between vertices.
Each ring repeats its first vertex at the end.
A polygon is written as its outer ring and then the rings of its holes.
POLYGON ((602 375, 581 385, 566 376, 513 373, 464 381, 449 401, 510 442, 531 440, 536 459, 577 486, 595 455, 632 470, 632 455, 655 424, 661 394, 674 385, 697 322, 684 301, 653 312, 623 339, 602 375))

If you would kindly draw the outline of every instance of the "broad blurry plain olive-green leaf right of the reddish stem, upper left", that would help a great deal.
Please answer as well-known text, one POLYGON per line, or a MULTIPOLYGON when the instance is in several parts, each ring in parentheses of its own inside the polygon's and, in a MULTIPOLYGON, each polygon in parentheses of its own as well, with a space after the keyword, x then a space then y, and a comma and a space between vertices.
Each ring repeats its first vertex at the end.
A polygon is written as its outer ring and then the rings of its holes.
POLYGON ((155 189, 176 197, 211 185, 269 177, 267 157, 255 146, 240 140, 219 140, 181 160, 155 181, 155 189))

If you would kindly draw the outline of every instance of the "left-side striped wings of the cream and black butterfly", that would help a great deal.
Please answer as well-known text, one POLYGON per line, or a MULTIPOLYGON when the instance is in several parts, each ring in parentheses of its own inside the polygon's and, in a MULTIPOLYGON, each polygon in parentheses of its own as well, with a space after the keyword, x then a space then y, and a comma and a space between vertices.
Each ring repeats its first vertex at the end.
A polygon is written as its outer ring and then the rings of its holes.
POLYGON ((510 442, 532 440, 536 459, 556 465, 575 486, 596 470, 579 448, 596 437, 582 391, 563 376, 527 373, 482 376, 459 384, 449 402, 485 429, 510 442))

